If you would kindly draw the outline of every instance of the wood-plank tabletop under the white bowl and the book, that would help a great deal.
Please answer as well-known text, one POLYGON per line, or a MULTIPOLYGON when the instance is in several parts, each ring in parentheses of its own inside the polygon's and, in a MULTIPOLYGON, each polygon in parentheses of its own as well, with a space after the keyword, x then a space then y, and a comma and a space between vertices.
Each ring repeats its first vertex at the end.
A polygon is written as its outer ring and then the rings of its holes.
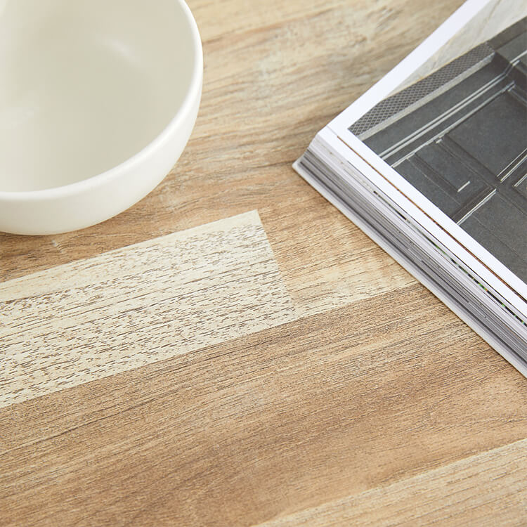
POLYGON ((527 525, 527 381, 297 176, 461 0, 191 0, 148 197, 0 235, 1 526, 527 525))

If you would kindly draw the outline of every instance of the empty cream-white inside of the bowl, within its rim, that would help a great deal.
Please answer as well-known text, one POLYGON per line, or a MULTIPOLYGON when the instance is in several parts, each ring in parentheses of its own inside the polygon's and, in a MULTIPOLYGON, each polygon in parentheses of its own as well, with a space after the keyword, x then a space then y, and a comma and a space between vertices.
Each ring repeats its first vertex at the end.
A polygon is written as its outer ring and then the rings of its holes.
POLYGON ((0 0, 0 191, 141 151, 183 103, 196 53, 178 0, 0 0))

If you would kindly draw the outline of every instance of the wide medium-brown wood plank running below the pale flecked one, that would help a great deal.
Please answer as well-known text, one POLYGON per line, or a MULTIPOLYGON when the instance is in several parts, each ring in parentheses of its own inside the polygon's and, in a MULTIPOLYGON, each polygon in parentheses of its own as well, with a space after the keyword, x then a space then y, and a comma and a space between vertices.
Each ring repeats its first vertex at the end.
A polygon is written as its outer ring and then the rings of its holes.
POLYGON ((261 523, 525 438, 526 382, 412 285, 0 410, 0 509, 261 523))

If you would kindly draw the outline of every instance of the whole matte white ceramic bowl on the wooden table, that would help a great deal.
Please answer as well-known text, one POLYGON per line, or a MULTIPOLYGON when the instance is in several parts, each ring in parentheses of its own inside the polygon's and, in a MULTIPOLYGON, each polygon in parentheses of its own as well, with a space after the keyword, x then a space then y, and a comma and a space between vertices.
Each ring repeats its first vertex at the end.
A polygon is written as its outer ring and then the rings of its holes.
POLYGON ((155 188, 200 104, 183 0, 0 0, 0 230, 91 226, 155 188))

